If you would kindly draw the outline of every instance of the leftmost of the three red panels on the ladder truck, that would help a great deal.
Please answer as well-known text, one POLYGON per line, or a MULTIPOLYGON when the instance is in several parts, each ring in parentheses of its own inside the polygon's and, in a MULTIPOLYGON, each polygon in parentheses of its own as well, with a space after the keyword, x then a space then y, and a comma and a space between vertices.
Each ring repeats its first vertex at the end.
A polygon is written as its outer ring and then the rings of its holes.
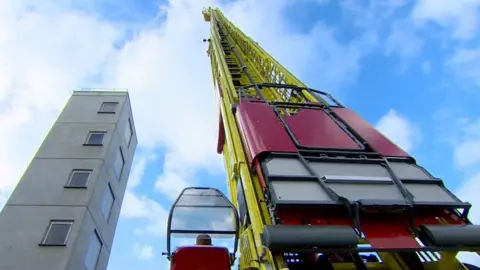
POLYGON ((285 128, 266 103, 243 101, 236 113, 250 162, 264 152, 296 152, 285 128))

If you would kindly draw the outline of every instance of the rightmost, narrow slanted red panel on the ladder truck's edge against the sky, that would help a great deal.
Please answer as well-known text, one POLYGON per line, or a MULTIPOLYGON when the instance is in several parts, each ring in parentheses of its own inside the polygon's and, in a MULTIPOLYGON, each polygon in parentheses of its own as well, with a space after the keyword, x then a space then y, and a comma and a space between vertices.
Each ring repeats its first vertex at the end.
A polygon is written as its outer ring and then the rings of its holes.
POLYGON ((332 108, 332 110, 381 155, 386 157, 410 157, 352 110, 347 108, 332 108))

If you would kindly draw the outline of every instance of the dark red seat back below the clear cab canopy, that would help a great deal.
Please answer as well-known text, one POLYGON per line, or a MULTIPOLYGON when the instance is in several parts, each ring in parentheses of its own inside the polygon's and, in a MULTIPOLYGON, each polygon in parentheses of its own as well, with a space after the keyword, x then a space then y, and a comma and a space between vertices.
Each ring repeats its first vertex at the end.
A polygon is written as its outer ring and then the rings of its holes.
POLYGON ((172 255, 171 270, 230 270, 230 254, 224 247, 179 247, 172 255))

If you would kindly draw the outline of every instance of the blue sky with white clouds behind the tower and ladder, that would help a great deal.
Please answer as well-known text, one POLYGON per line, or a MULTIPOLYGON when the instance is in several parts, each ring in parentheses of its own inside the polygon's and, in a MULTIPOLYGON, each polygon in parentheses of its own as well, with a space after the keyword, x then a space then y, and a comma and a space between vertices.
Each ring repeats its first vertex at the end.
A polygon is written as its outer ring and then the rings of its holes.
POLYGON ((172 199, 225 190, 205 6, 480 204, 479 0, 0 0, 0 207, 73 90, 128 88, 139 147, 109 269, 164 269, 172 199))

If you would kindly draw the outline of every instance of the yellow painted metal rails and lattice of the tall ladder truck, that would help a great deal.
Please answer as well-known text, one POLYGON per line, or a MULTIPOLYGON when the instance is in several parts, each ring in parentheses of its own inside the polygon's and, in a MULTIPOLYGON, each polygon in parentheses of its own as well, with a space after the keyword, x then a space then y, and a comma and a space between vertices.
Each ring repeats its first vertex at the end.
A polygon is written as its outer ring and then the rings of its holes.
MULTIPOLYGON (((245 63, 251 76, 257 82, 269 82, 278 84, 296 85, 306 87, 298 78, 291 74, 286 68, 270 56, 257 42, 240 31, 233 23, 227 20, 218 10, 207 8, 203 10, 204 20, 210 23, 210 40, 208 55, 211 59, 212 76, 217 93, 221 93, 220 113, 222 116, 223 127, 225 131, 225 143, 223 145, 223 156, 225 161, 225 171, 227 174, 227 185, 229 188, 232 203, 238 207, 237 185, 240 181, 244 189, 245 200, 248 205, 248 214, 250 224, 246 228, 241 228, 240 237, 240 269, 258 268, 265 270, 286 269, 283 256, 271 254, 263 246, 260 234, 263 226, 270 224, 270 214, 264 203, 264 195, 259 186, 258 176, 249 170, 246 151, 242 142, 242 133, 236 122, 235 116, 231 111, 233 104, 238 102, 237 88, 233 83, 232 74, 228 63, 240 64, 238 59, 232 54, 226 55, 222 48, 222 38, 220 29, 217 25, 220 22, 225 34, 233 42, 237 53, 245 63), (228 63, 227 63, 228 61, 228 63)), ((223 30, 222 30, 223 31, 223 30)), ((224 44, 223 44, 224 45, 224 44)), ((248 84, 247 77, 239 75, 237 78, 243 85, 248 84)), ((307 91, 304 96, 307 100, 301 100, 299 97, 285 96, 277 89, 264 90, 266 99, 288 102, 325 102, 321 97, 314 97, 307 91)), ((442 260, 425 264, 425 269, 453 269, 461 264, 455 259, 456 253, 442 254, 442 260), (448 268, 450 267, 450 268, 448 268)), ((406 263, 395 253, 381 253, 382 263, 368 263, 368 269, 378 270, 407 270, 406 263)), ((353 263, 338 263, 334 269, 354 270, 357 269, 353 263)), ((411 269, 415 270, 415 269, 411 269)))

